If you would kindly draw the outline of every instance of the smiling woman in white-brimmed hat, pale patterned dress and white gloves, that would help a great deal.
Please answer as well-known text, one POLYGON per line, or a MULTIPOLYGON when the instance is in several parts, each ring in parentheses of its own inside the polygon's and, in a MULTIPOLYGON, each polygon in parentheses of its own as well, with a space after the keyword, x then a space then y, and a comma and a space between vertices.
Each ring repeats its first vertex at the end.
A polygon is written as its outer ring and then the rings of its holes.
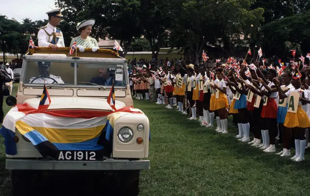
POLYGON ((99 48, 97 41, 89 36, 92 32, 94 23, 94 19, 79 22, 77 25, 77 30, 80 32, 80 35, 72 39, 70 46, 77 40, 77 47, 80 52, 84 52, 84 48, 92 48, 93 52, 97 51, 99 48))

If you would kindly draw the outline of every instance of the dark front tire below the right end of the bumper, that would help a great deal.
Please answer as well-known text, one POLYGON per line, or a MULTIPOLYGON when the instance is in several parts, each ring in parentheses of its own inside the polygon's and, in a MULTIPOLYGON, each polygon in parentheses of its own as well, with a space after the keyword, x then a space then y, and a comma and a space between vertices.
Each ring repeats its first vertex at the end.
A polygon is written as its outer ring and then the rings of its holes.
POLYGON ((121 171, 120 187, 123 196, 139 196, 140 170, 121 171))

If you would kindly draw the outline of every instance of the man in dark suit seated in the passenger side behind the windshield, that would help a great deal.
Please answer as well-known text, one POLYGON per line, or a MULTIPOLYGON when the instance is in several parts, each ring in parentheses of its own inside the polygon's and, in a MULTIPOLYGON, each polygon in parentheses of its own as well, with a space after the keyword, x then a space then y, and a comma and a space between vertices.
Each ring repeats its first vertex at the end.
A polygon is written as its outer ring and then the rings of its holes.
POLYGON ((114 79, 114 86, 122 86, 123 81, 116 81, 114 74, 111 72, 110 68, 101 68, 99 70, 99 77, 93 77, 90 83, 104 85, 104 86, 112 86, 114 79))

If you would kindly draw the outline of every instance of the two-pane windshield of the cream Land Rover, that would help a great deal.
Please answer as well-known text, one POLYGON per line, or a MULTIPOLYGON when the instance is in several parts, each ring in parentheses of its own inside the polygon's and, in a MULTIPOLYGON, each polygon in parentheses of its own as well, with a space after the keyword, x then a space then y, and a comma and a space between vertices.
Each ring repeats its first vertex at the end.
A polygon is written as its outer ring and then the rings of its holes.
POLYGON ((25 84, 67 84, 90 85, 91 83, 112 86, 126 86, 123 64, 75 63, 29 61, 24 75, 25 84), (76 80, 75 80, 76 78, 76 80), (76 83, 75 83, 76 81, 76 83))

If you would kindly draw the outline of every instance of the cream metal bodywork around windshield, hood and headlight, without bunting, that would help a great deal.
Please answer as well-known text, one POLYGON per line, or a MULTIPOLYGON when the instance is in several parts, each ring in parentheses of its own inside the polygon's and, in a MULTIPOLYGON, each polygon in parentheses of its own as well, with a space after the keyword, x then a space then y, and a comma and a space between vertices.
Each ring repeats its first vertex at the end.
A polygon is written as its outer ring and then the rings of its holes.
MULTIPOLYGON (((62 61, 62 62, 92 62, 92 63, 115 63, 124 64, 124 73, 127 73, 127 65, 124 59, 105 59, 105 58, 79 58, 64 57, 62 55, 45 55, 45 56, 25 56, 23 60, 23 68, 21 79, 17 91, 17 104, 27 103, 31 107, 37 108, 43 91, 43 85, 23 84, 25 70, 28 61, 62 61)), ((76 72, 75 67, 75 72, 76 72)), ((109 95, 109 86, 101 88, 98 86, 79 85, 75 81, 75 85, 47 85, 49 96, 51 97, 51 105, 49 110, 61 109, 78 109, 78 110, 105 110, 111 111, 111 107, 107 103, 109 95)), ((115 106, 117 109, 124 106, 133 106, 131 91, 129 86, 129 78, 126 75, 126 86, 115 87, 115 106)), ((41 158, 41 154, 34 148, 31 142, 26 141, 23 136, 16 130, 16 136, 19 138, 17 142, 17 154, 7 155, 9 158, 41 158)), ((149 154, 149 120, 144 114, 128 113, 114 121, 113 130, 113 149, 111 158, 124 159, 140 159, 146 158, 149 154), (137 126, 142 124, 144 129, 139 131, 137 126), (134 133, 133 139, 128 143, 119 140, 117 133, 122 127, 129 127, 134 133), (143 138, 143 143, 138 144, 136 139, 143 138)), ((9 162, 7 162, 9 163, 9 162)), ((149 164, 149 163, 148 163, 149 164)), ((148 165, 149 166, 149 165, 148 165)), ((11 168, 11 167, 8 167, 11 168)), ((14 168, 11 168, 14 169, 14 168)), ((17 168, 15 168, 17 169, 17 168)))

